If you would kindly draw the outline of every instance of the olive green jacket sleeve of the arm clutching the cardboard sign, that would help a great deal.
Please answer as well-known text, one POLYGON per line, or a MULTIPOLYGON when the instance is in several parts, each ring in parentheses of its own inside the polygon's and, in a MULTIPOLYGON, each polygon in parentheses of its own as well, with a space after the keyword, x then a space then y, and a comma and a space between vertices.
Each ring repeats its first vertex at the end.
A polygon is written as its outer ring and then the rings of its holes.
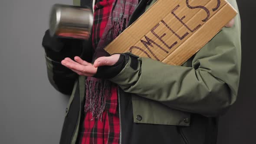
MULTIPOLYGON (((229 0, 237 10, 235 0, 229 0)), ((125 92, 159 101, 168 107, 213 117, 234 103, 240 79, 240 16, 224 27, 192 58, 192 67, 167 65, 148 58, 129 57, 114 78, 125 92)))

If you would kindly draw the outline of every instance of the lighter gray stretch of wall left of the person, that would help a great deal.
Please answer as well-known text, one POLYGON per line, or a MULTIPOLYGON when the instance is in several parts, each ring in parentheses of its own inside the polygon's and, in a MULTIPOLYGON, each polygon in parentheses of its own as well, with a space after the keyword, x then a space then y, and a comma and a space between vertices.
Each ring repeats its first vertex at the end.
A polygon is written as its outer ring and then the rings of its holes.
POLYGON ((58 144, 68 97, 49 84, 41 46, 54 3, 0 0, 0 144, 58 144))

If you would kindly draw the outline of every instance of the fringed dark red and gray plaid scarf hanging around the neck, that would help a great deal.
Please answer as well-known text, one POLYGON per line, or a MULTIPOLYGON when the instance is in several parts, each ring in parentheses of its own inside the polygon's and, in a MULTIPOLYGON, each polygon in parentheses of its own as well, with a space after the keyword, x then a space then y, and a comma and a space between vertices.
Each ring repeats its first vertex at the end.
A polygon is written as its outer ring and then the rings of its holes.
MULTIPOLYGON (((93 61, 101 56, 109 56, 104 50, 128 25, 128 20, 135 10, 138 0, 115 0, 108 17, 104 33, 98 42, 93 61)), ((92 118, 101 119, 105 110, 106 99, 111 96, 111 82, 105 79, 88 77, 86 82, 85 112, 90 111, 92 118)))

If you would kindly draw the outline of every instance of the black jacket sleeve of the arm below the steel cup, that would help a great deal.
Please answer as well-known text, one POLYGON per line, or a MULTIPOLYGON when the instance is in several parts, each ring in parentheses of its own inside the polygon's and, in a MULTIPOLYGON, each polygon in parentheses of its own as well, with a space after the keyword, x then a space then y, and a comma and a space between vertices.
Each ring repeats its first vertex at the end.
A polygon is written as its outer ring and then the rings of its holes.
POLYGON ((71 95, 72 89, 78 75, 61 64, 62 59, 81 56, 89 61, 92 57, 91 45, 78 39, 55 39, 46 31, 42 43, 45 49, 46 68, 49 82, 56 90, 71 95), (83 49, 85 48, 85 49, 83 49), (53 50, 58 49, 58 51, 53 50))

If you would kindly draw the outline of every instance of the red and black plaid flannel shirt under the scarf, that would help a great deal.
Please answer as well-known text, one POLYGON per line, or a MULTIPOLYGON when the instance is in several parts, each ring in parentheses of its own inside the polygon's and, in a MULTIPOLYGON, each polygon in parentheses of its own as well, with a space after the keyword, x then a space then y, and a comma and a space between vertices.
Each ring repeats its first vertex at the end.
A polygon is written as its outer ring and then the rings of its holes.
MULTIPOLYGON (((92 43, 96 48, 112 9, 113 0, 96 0, 94 7, 94 21, 92 26, 92 43)), ((79 144, 118 144, 119 118, 117 112, 117 87, 112 85, 111 98, 106 100, 102 120, 92 118, 91 112, 85 114, 82 128, 79 131, 79 144)))

